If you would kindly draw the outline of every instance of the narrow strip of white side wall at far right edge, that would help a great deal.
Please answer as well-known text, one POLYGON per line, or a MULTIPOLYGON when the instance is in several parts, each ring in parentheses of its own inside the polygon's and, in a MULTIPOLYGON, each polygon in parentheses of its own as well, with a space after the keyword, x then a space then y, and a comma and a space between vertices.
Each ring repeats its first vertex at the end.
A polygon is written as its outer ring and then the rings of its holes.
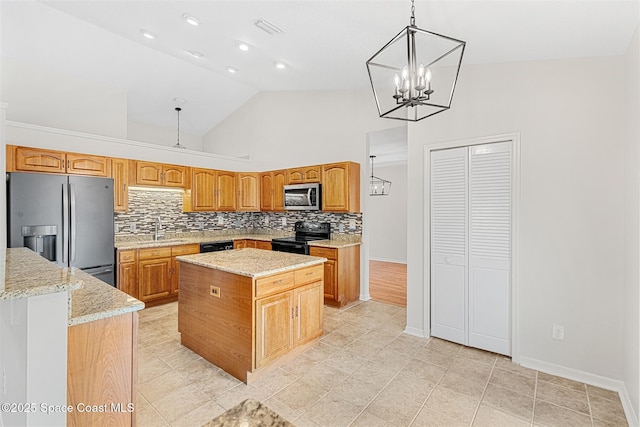
POLYGON ((627 52, 627 136, 624 210, 624 383, 638 424, 640 416, 640 41, 627 52))

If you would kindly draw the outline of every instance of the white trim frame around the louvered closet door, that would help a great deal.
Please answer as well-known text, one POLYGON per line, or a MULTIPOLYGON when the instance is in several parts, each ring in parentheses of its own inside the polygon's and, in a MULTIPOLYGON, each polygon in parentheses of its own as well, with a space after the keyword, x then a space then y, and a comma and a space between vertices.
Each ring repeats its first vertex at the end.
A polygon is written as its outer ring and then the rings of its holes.
POLYGON ((474 145, 493 144, 497 142, 511 142, 512 188, 511 188, 511 360, 520 364, 520 342, 518 341, 519 329, 519 240, 520 240, 520 133, 508 133, 491 135, 479 138, 440 142, 424 146, 424 301, 423 301, 423 330, 427 331, 427 336, 431 336, 431 152, 448 148, 470 147, 474 145))

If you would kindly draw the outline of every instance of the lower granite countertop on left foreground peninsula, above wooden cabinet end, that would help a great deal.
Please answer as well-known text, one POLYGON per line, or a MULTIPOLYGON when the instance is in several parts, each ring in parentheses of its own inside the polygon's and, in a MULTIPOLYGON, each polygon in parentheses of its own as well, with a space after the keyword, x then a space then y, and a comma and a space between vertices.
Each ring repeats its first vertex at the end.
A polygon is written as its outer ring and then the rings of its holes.
POLYGON ((69 326, 142 310, 144 303, 82 270, 74 275, 84 286, 71 292, 69 326))

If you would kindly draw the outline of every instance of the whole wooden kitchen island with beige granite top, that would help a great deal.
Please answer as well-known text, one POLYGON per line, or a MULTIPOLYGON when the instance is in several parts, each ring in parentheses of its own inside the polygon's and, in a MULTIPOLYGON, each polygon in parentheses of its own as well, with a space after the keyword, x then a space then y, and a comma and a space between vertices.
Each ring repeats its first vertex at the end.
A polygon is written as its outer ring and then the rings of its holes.
POLYGON ((246 248, 177 260, 182 344, 239 380, 322 335, 326 258, 246 248))

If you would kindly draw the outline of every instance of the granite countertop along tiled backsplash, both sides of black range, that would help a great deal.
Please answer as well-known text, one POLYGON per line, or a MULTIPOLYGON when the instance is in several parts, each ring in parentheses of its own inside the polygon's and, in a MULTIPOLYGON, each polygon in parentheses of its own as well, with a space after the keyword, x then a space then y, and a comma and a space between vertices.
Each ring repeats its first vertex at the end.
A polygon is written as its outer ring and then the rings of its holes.
MULTIPOLYGON (((127 236, 117 237, 115 244, 116 249, 143 249, 143 248, 159 248, 163 246, 200 244, 203 242, 221 242, 225 240, 263 240, 270 242, 271 239, 279 237, 290 237, 292 233, 243 233, 243 234, 214 234, 208 235, 206 232, 200 233, 179 233, 167 236, 161 240, 151 240, 152 236, 127 236)), ((344 248, 347 246, 360 245, 362 243, 360 236, 351 235, 334 235, 329 240, 315 240, 308 242, 310 246, 321 246, 326 248, 344 248)))

